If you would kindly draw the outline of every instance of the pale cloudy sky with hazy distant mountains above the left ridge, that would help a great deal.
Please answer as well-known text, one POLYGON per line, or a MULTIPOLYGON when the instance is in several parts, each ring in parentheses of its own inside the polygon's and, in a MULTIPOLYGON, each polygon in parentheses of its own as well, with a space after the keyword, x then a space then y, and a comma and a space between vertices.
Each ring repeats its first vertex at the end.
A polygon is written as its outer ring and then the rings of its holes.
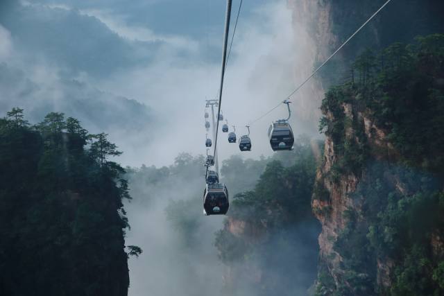
MULTIPOLYGON (((182 151, 205 154, 204 104, 219 87, 225 5, 4 0, 0 112, 19 105, 32 121, 49 111, 76 116, 91 132, 108 132, 125 165, 171 164, 182 151)), ((234 16, 238 6, 233 1, 234 16)), ((311 71, 313 46, 302 25, 285 0, 244 1, 222 103, 239 135, 311 71)), ((293 129, 315 133, 320 95, 314 85, 301 95, 292 106, 293 129)), ((268 125, 285 116, 282 105, 251 127, 248 156, 271 154, 268 125)), ((222 159, 239 153, 226 134, 219 143, 222 159)))

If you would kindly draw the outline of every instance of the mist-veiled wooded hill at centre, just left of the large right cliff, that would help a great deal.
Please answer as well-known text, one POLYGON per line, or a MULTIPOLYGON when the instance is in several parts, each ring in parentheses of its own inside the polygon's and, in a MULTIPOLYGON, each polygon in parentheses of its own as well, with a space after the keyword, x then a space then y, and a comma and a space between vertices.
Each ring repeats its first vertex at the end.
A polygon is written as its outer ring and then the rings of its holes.
MULTIPOLYGON (((309 139, 296 143, 293 164, 271 160, 253 190, 234 196, 228 216, 232 227, 243 225, 242 232, 232 232, 227 220, 216 233, 215 244, 225 264, 262 270, 255 295, 306 293, 316 277, 320 227, 310 202, 316 159, 309 139)), ((248 275, 237 279, 244 281, 249 281, 248 275)))

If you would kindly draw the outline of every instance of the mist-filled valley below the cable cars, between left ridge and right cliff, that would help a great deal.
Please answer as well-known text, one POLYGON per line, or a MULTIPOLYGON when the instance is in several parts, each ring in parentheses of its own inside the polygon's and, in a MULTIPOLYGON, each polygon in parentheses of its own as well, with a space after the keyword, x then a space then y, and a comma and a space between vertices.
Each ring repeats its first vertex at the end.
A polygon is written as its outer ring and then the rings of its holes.
POLYGON ((203 156, 182 153, 168 167, 128 168, 133 200, 125 206, 132 225, 126 243, 144 250, 129 261, 130 295, 198 296, 209 289, 224 296, 306 295, 316 277, 320 229, 311 216, 310 186, 302 186, 313 183, 314 165, 308 175, 302 171, 295 180, 291 177, 299 162, 314 157, 307 138, 298 142, 287 154, 287 168, 275 156, 223 162, 222 177, 231 196, 228 218, 202 214, 203 156), (273 161, 288 172, 277 182, 269 171, 273 161), (291 181, 295 188, 275 191, 291 181), (259 202, 269 182, 275 191, 267 197, 274 200, 271 208, 259 202), (248 192, 258 200, 242 205, 233 198, 248 192), (263 209, 267 218, 255 222, 263 209))

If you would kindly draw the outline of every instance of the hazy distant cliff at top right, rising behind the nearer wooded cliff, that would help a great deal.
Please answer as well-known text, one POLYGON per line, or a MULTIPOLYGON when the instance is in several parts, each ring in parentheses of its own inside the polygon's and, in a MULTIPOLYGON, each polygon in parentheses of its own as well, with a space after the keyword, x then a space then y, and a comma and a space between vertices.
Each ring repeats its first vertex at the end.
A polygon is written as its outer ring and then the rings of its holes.
MULTIPOLYGON (((383 3, 374 0, 288 0, 288 6, 293 10, 296 40, 309 40, 315 66, 325 61, 383 3), (304 34, 309 38, 303 37, 304 34)), ((441 32, 443 11, 444 2, 441 0, 391 1, 325 65, 316 77, 316 86, 321 90, 342 82, 349 75, 352 61, 369 47, 382 49, 393 42, 408 43, 418 35, 441 32)), ((308 67, 310 71, 313 68, 311 64, 308 67)))

